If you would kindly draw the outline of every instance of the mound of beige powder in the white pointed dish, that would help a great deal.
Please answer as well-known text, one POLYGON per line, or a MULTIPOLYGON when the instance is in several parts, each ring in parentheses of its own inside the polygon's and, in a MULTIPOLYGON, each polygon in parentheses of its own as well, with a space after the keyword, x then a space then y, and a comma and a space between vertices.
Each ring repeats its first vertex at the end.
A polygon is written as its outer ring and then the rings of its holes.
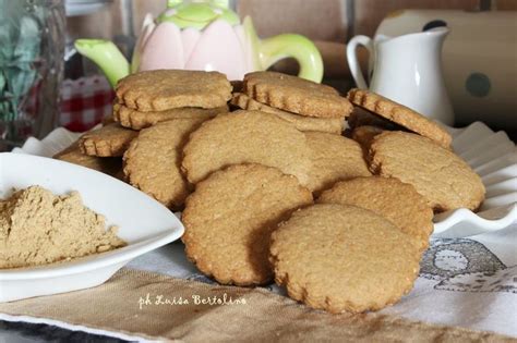
POLYGON ((0 269, 65 261, 127 245, 117 226, 85 207, 81 195, 31 186, 0 206, 0 269))

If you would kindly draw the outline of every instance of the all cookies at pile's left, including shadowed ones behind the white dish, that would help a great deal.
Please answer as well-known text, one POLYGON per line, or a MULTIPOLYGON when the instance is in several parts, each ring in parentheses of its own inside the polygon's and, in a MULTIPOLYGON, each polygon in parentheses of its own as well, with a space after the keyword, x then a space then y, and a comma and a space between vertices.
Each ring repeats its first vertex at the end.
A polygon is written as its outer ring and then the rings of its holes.
POLYGON ((192 187, 180 171, 182 145, 203 121, 228 112, 229 82, 217 72, 149 71, 121 79, 116 94, 112 121, 56 158, 125 180, 180 209, 192 187))

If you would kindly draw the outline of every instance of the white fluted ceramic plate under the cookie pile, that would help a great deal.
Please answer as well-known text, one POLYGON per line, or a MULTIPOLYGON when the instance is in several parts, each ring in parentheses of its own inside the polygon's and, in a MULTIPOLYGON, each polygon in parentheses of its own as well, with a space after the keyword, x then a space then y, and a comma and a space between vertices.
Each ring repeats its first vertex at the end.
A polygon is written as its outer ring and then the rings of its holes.
MULTIPOLYGON (((517 148, 504 132, 493 132, 481 122, 465 128, 448 127, 454 150, 478 172, 486 187, 486 199, 478 213, 457 209, 434 218, 434 235, 466 237, 507 228, 517 221, 517 148)), ((74 142, 79 134, 62 127, 43 140, 29 138, 17 152, 52 156, 74 142)))

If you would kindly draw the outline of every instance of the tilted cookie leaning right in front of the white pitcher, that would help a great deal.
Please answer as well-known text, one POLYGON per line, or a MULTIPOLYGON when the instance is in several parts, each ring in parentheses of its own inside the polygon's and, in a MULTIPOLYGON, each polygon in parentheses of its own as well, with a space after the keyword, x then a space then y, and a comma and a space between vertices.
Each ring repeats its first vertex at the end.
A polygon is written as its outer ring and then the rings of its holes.
POLYGON ((450 147, 453 137, 445 128, 404 105, 392 101, 378 94, 358 88, 350 89, 347 98, 353 105, 395 122, 411 132, 433 139, 444 148, 450 147))

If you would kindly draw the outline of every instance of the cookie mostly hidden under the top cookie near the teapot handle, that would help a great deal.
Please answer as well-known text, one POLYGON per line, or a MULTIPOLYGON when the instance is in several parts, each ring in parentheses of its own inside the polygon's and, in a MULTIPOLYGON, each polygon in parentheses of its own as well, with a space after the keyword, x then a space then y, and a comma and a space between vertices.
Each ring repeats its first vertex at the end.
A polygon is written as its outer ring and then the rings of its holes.
POLYGON ((321 131, 340 134, 345 125, 344 118, 312 118, 299 115, 255 101, 243 93, 235 93, 230 103, 243 110, 263 111, 276 114, 279 118, 293 123, 300 131, 321 131))

